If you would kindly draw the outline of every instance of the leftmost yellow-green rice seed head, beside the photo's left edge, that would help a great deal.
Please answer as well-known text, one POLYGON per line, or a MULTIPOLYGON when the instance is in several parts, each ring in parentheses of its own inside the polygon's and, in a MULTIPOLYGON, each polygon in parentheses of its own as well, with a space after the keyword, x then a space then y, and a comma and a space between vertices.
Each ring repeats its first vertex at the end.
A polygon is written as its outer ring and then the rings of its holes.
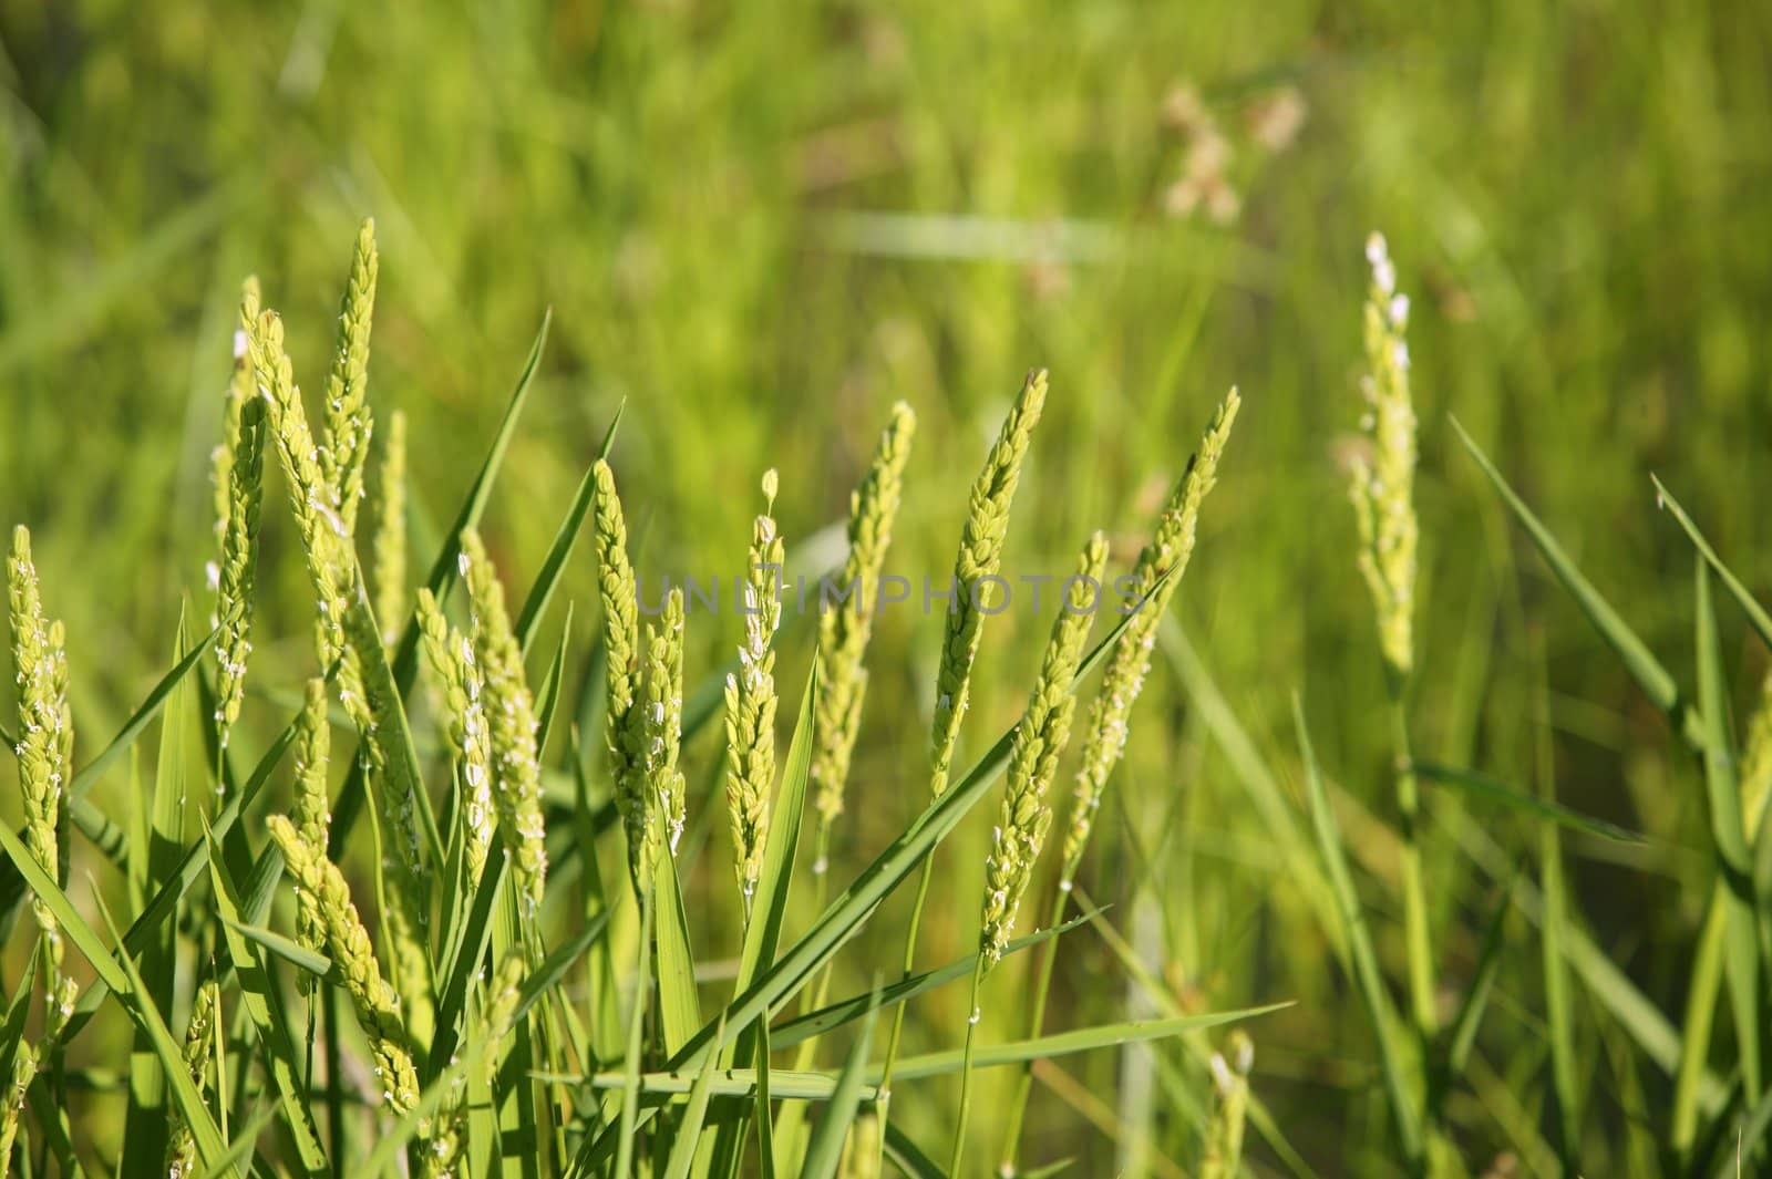
MULTIPOLYGON (((73 720, 67 710, 67 653, 60 623, 43 614, 30 531, 12 529, 7 556, 7 607, 12 623, 12 667, 18 683, 18 784, 25 811, 25 846, 53 878, 60 878, 57 830, 62 791, 73 781, 73 720)), ((55 915, 34 896, 32 912, 50 944, 51 968, 60 963, 55 915)))

